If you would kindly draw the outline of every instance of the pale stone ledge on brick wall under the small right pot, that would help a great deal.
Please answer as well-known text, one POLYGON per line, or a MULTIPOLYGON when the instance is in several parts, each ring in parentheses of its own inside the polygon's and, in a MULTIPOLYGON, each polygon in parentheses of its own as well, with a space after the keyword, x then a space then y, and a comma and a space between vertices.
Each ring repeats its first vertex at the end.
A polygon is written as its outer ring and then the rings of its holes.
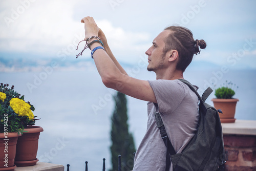
POLYGON ((221 125, 223 134, 256 135, 256 120, 236 120, 221 125))

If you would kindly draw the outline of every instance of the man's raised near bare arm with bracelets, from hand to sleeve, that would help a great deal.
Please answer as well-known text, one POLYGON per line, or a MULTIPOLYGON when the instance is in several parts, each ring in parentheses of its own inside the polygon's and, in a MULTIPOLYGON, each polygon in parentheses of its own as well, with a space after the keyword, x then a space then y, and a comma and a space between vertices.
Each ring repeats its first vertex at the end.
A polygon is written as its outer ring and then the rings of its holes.
MULTIPOLYGON (((91 36, 99 35, 99 28, 92 17, 84 17, 82 18, 81 22, 84 23, 86 39, 91 36)), ((93 41, 93 39, 91 41, 93 41)), ((92 50, 96 47, 102 46, 98 42, 91 45, 92 50)), ((103 49, 98 49, 94 52, 93 57, 102 82, 106 87, 115 89, 137 99, 155 103, 157 102, 150 83, 145 80, 130 77, 126 74, 126 72, 123 73, 123 69, 120 70, 116 66, 115 61, 106 51, 103 49)))

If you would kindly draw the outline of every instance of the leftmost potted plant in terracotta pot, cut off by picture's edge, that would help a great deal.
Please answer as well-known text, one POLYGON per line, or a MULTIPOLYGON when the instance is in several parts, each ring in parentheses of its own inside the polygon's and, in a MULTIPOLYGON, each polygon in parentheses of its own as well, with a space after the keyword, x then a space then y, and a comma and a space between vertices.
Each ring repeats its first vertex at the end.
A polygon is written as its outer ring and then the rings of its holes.
POLYGON ((14 170, 14 159, 18 136, 21 136, 22 123, 19 116, 12 110, 10 100, 20 95, 8 84, 0 86, 0 170, 14 170))

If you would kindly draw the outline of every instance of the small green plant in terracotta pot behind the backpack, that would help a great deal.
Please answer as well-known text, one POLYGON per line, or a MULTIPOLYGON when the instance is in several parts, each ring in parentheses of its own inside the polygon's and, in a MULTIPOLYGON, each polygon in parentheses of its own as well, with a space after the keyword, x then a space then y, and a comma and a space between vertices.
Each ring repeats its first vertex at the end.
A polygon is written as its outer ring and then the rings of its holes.
POLYGON ((236 84, 231 81, 223 83, 223 85, 215 90, 215 96, 217 98, 211 99, 214 102, 214 106, 219 112, 222 123, 232 123, 236 121, 234 114, 236 113, 236 105, 239 99, 233 98, 235 89, 238 89, 236 84))

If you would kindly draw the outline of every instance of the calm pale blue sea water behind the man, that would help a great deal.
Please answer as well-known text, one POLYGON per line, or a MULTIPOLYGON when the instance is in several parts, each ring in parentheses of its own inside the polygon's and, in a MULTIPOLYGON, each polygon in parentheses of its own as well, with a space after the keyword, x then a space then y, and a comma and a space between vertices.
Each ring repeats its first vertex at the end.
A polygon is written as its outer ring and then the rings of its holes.
MULTIPOLYGON (((138 79, 156 79, 154 73, 140 71, 138 79)), ((236 118, 256 120, 255 70, 237 70, 216 74, 212 71, 187 70, 185 79, 200 87, 215 83, 220 86, 226 80, 236 83, 239 98, 236 118)), ((25 95, 25 101, 34 105, 44 132, 39 137, 37 158, 41 162, 62 164, 70 170, 84 170, 85 161, 89 170, 101 170, 102 159, 106 169, 111 168, 111 115, 114 110, 112 96, 116 91, 105 88, 96 69, 81 71, 54 71, 49 75, 42 72, 0 73, 0 82, 14 85, 15 90, 25 95), (42 78, 38 80, 38 78, 42 78)), ((212 104, 210 99, 206 102, 212 104)), ((146 131, 146 101, 127 97, 129 130, 138 147, 146 131)), ((212 104, 213 105, 213 104, 212 104)), ((116 157, 118 160, 118 157, 116 157)))

